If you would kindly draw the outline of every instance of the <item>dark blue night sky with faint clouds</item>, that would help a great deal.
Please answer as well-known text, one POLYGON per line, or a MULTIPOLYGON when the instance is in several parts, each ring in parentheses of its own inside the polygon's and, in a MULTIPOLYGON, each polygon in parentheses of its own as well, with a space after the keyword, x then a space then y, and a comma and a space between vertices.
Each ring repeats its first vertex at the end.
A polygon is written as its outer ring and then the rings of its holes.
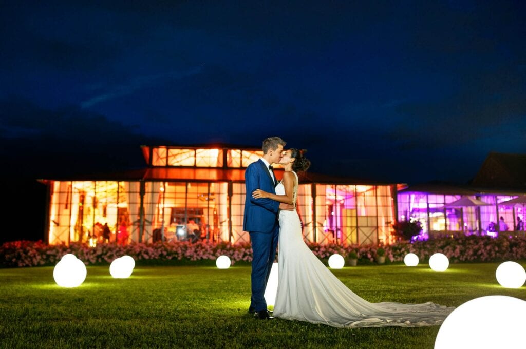
POLYGON ((525 4, 4 1, 0 155, 38 177, 278 135, 312 171, 465 182, 526 153, 525 4))

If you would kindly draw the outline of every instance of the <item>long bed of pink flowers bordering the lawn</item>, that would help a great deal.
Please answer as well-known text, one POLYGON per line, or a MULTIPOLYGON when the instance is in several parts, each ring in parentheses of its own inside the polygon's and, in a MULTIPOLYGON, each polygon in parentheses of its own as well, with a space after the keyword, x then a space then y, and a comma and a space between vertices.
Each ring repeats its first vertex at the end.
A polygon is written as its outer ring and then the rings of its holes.
MULTIPOLYGON (((318 258, 326 260, 333 253, 345 258, 351 251, 358 254, 359 264, 375 263, 379 246, 343 247, 337 244, 308 243, 309 248, 318 258)), ((462 237, 455 239, 434 239, 413 243, 396 243, 382 246, 385 249, 386 261, 402 262, 409 253, 418 255, 420 262, 426 262, 436 252, 448 256, 451 263, 458 262, 497 262, 505 260, 526 259, 526 239, 524 238, 489 238, 462 237)), ((91 248, 86 244, 71 243, 66 245, 46 245, 42 241, 14 241, 0 246, 0 266, 4 268, 55 265, 66 253, 73 253, 85 264, 107 264, 122 255, 130 255, 136 261, 159 264, 184 264, 197 261, 215 261, 222 254, 229 256, 232 263, 251 262, 252 249, 249 243, 235 245, 210 242, 157 242, 153 244, 132 243, 126 246, 115 243, 98 244, 91 248)))

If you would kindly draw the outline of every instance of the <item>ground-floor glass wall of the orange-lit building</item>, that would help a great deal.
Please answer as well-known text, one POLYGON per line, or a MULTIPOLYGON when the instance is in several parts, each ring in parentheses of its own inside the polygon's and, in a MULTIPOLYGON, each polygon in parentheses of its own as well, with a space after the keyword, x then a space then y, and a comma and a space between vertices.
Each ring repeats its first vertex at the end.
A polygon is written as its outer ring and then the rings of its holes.
MULTIPOLYGON (((244 183, 55 181, 48 242, 249 242, 244 207, 244 183)), ((306 241, 392 242, 390 186, 301 184, 297 210, 306 241)))

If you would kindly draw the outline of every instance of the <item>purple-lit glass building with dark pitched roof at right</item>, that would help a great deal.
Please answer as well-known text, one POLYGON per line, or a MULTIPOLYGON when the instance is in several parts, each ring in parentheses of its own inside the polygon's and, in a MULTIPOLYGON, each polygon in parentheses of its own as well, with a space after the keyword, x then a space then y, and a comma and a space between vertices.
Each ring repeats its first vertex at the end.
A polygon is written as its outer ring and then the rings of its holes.
POLYGON ((491 152, 465 186, 419 184, 398 192, 398 220, 419 221, 420 238, 524 237, 526 155, 491 152), (513 201, 511 201, 513 200, 513 201))

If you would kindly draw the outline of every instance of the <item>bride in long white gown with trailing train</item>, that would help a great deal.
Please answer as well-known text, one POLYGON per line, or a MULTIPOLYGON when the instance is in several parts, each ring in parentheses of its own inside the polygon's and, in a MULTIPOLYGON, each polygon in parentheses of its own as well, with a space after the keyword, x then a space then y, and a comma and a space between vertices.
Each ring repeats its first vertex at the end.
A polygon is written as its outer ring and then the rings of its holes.
MULTIPOLYGON (((296 205, 298 175, 310 161, 304 151, 288 149, 280 164, 283 179, 276 194, 260 189, 254 198, 269 198, 296 205)), ((431 302, 370 303, 352 292, 313 254, 303 240, 297 211, 279 212, 278 291, 274 317, 335 327, 417 327, 440 325, 453 307, 431 302)))

